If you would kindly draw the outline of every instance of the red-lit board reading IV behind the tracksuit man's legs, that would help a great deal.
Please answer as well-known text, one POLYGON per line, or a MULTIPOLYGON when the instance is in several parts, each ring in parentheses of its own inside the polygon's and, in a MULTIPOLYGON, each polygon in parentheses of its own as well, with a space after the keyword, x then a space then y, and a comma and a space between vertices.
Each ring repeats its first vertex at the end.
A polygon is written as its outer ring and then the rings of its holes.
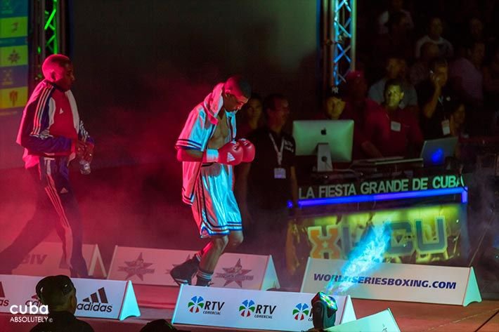
MULTIPOLYGON (((99 279, 105 279, 107 273, 97 244, 83 244, 83 257, 89 275, 99 279)), ((70 276, 63 247, 60 242, 41 242, 22 260, 20 265, 12 271, 13 274, 29 276, 48 276, 65 274, 70 276)))

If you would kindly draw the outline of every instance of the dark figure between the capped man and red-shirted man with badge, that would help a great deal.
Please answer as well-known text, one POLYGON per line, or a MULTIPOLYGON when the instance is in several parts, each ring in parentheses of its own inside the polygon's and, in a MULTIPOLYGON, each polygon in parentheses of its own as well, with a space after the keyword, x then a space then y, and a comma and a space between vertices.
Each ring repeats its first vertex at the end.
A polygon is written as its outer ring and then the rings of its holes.
POLYGON ((363 72, 346 75, 346 103, 342 119, 354 120, 353 159, 382 157, 380 150, 365 136, 365 119, 370 112, 380 109, 377 102, 367 98, 368 84, 363 72))

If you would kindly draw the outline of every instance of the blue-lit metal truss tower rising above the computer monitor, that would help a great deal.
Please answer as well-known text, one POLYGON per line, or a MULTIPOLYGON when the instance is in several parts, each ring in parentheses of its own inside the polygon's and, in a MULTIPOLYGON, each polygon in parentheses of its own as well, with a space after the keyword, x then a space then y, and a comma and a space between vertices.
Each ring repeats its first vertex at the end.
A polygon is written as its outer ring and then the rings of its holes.
POLYGON ((357 0, 321 0, 323 86, 339 86, 355 70, 357 0))

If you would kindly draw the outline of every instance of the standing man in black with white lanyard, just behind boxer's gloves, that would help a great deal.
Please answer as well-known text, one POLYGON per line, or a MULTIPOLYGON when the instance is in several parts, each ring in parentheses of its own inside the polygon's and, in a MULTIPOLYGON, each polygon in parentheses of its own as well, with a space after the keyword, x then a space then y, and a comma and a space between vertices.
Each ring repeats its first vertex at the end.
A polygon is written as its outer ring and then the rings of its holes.
POLYGON ((291 135, 283 132, 290 114, 287 98, 269 95, 264 100, 264 114, 267 125, 248 137, 255 146, 255 159, 251 164, 238 166, 235 190, 245 223, 247 251, 271 253, 282 280, 289 219, 287 201, 296 206, 298 199, 295 143, 291 135))

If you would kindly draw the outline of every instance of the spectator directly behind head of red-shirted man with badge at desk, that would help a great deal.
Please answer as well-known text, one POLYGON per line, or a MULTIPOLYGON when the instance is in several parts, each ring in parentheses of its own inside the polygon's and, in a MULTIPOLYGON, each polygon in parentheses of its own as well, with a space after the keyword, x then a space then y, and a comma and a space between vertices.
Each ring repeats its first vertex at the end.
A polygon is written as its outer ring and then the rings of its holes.
POLYGON ((404 79, 406 72, 406 61, 398 56, 389 56, 387 58, 387 66, 385 67, 385 74, 380 81, 377 81, 369 89, 368 96, 378 104, 384 102, 385 84, 390 79, 398 79, 402 84, 403 99, 399 107, 407 109, 408 112, 417 114, 417 94, 414 86, 404 79))

